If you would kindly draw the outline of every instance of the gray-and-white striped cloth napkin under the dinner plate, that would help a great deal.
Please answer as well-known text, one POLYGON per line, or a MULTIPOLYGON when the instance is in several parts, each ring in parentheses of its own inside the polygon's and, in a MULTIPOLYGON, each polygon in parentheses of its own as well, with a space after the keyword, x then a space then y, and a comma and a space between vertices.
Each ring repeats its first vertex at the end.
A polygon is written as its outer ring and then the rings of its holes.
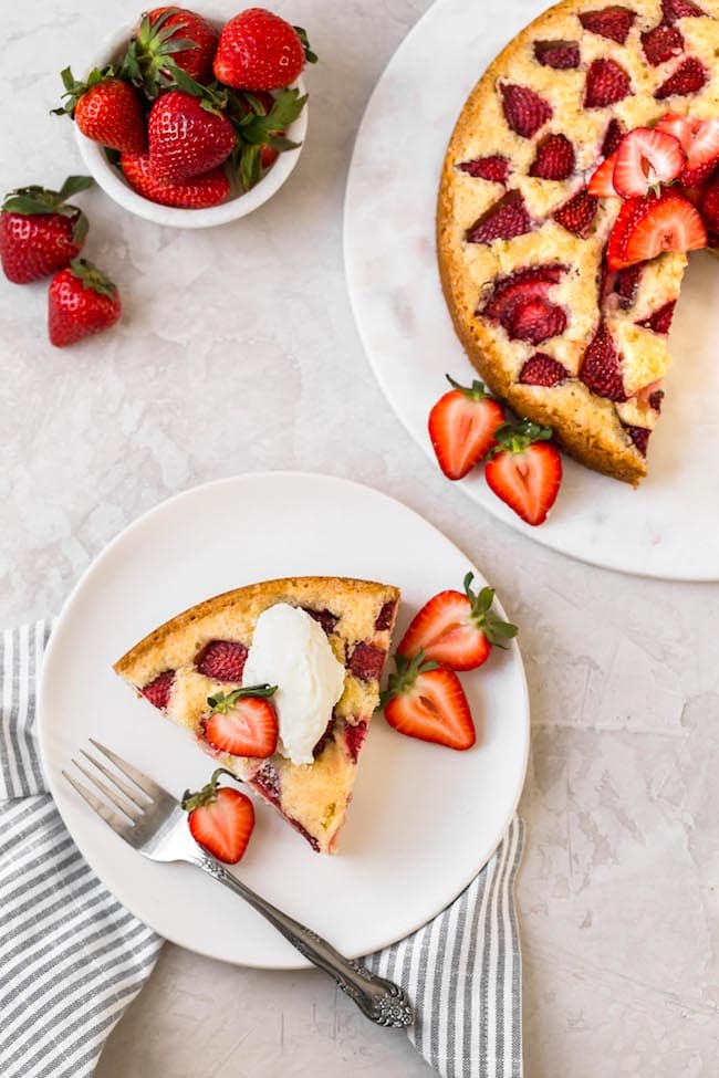
MULTIPOLYGON (((92 873, 46 792, 34 685, 51 624, 3 634, 0 662, 0 1075, 90 1078, 161 939, 92 873)), ((523 825, 434 921, 366 964, 407 991, 409 1036, 444 1078, 521 1078, 513 887, 523 825)))

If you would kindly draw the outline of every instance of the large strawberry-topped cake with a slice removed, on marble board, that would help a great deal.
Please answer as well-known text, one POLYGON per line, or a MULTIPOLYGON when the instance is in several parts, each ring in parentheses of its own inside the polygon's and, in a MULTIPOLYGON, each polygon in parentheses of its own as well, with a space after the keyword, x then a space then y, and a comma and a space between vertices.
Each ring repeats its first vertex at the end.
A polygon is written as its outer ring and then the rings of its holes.
POLYGON ((719 0, 565 0, 480 79, 442 168, 439 268, 472 364, 633 484, 686 252, 717 241, 718 19, 719 0))

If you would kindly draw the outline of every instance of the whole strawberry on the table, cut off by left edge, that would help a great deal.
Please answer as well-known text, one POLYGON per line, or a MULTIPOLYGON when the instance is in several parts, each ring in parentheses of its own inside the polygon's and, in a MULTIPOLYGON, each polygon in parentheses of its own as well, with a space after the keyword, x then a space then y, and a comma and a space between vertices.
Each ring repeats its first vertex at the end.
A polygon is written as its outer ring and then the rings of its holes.
POLYGON ((0 212, 0 259, 9 281, 38 281, 80 253, 87 218, 66 199, 92 182, 90 176, 69 176, 59 191, 21 187, 6 197, 0 212))

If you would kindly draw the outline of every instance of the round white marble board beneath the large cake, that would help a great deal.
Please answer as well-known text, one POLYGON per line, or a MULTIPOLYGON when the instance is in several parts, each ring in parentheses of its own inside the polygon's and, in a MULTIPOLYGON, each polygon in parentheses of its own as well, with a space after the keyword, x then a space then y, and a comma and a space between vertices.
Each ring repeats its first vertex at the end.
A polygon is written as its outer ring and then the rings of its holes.
MULTIPOLYGON (((352 304, 389 404, 430 456, 427 415, 448 388, 445 373, 465 384, 473 373, 437 273, 441 161, 475 82, 545 6, 438 0, 389 62, 357 135, 344 224, 352 304)), ((712 404, 719 400, 718 293, 717 260, 692 255, 671 331, 674 364, 649 447, 649 477, 638 491, 565 458, 559 500, 535 528, 492 494, 481 470, 459 484, 465 493, 536 542, 595 565, 719 579, 719 412, 712 404)))

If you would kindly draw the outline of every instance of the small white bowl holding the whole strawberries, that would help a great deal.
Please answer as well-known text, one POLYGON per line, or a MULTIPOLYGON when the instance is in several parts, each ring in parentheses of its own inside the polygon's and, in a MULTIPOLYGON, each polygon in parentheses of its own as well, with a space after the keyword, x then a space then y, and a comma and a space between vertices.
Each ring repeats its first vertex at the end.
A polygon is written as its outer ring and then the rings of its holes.
MULTIPOLYGON (((97 51, 97 56, 87 65, 87 71, 93 66, 102 67, 104 64, 111 63, 116 59, 139 21, 139 11, 140 8, 138 6, 137 18, 103 42, 97 51)), ((218 15, 216 10, 208 11, 207 8, 204 8, 199 13, 218 29, 223 25, 228 18, 227 15, 225 18, 218 15)), ((85 72, 82 72, 82 74, 85 74, 85 72)), ((301 94, 305 93, 302 79, 298 79, 292 85, 296 86, 301 94)), ((290 124, 286 129, 288 138, 291 138, 294 143, 300 143, 298 149, 288 149, 280 154, 277 161, 265 172, 260 182, 250 191, 242 192, 235 185, 235 181, 232 181, 230 195, 225 202, 201 210, 184 210, 174 206, 160 206, 158 202, 152 202, 149 199, 143 198, 142 195, 137 195, 129 187, 119 168, 110 164, 105 156, 105 150, 100 143, 94 143, 92 139, 85 138, 76 125, 75 138, 77 139, 77 147, 82 159, 95 182, 98 187, 102 187, 103 191, 110 198, 122 206, 123 209, 129 210, 131 213, 135 213, 137 217, 143 217, 147 221, 154 221, 155 224, 169 224, 173 228, 202 229, 212 228, 216 224, 226 224, 228 221, 235 221, 240 217, 246 217, 252 210, 256 210, 258 206, 262 206, 269 198, 272 198, 296 165, 302 146, 304 145, 306 130, 308 105, 304 106, 298 119, 293 124, 290 124)))

